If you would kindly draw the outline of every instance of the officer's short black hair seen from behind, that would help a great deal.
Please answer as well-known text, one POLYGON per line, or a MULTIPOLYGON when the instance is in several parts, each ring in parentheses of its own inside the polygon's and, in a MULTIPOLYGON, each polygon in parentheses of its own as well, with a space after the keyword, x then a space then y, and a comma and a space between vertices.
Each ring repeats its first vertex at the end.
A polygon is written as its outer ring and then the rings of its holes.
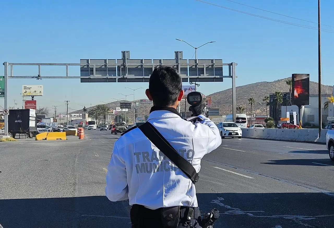
POLYGON ((182 90, 182 78, 173 67, 157 67, 150 76, 149 90, 155 106, 174 105, 182 90))

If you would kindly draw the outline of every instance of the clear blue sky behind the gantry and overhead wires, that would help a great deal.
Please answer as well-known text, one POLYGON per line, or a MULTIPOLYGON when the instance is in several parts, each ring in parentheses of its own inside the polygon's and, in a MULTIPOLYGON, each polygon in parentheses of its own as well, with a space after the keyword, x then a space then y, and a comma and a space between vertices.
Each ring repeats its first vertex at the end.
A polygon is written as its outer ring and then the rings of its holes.
MULTIPOLYGON (((207 2, 252 14, 317 27, 317 24, 295 20, 245 7, 226 0, 207 2)), ((316 0, 235 0, 236 2, 276 13, 317 22, 316 0)), ((333 85, 334 2, 322 1, 323 83, 333 85)), ((79 59, 114 59, 122 50, 130 50, 132 59, 174 58, 182 50, 183 58, 223 59, 238 63, 237 86, 258 81, 290 77, 292 73, 310 73, 318 80, 317 30, 270 21, 230 11, 195 0, 169 1, 7 1, 1 5, 0 62, 79 63, 79 59), (46 3, 47 2, 47 3, 46 3), (70 3, 69 3, 70 2, 70 3)), ((14 67, 14 75, 36 75, 37 67, 14 67)), ((64 67, 43 67, 42 75, 64 75, 64 67)), ((69 68, 79 75, 78 68, 69 68)), ((3 67, 0 69, 3 75, 3 67)), ((64 100, 71 109, 122 98, 131 94, 124 87, 147 88, 147 83, 80 83, 79 79, 9 79, 9 105, 22 105, 22 85, 44 86, 44 96, 36 97, 37 106, 57 106, 65 111, 64 100)), ((224 82, 200 83, 199 91, 210 94, 231 87, 224 82)), ((136 99, 146 98, 145 90, 136 91, 136 99)), ((130 96, 132 97, 132 96, 130 96)), ((132 99, 132 98, 131 98, 132 99)), ((3 99, 0 99, 3 106, 3 99)))

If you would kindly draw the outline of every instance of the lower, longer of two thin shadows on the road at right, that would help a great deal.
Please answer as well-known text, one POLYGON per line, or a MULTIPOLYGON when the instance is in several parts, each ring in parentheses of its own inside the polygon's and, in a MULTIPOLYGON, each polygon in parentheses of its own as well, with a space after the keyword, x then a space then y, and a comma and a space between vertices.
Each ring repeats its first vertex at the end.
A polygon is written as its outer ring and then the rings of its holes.
POLYGON ((284 159, 270 160, 262 162, 267 165, 286 165, 286 166, 334 166, 334 162, 328 159, 284 159))

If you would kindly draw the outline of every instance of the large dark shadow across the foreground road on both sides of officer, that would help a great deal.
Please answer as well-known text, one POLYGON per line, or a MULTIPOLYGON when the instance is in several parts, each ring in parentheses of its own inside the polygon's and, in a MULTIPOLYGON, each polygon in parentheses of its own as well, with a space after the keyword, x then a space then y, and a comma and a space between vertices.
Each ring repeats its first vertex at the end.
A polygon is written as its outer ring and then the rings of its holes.
MULTIPOLYGON (((214 227, 333 227, 334 198, 324 193, 199 193, 202 212, 217 208, 214 227)), ((105 196, 0 200, 3 228, 130 228, 127 201, 105 196)))

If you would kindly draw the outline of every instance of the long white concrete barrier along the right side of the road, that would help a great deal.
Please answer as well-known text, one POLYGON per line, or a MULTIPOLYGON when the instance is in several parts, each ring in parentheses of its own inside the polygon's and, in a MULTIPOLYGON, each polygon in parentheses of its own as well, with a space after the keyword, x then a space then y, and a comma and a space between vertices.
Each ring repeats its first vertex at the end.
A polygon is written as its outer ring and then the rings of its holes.
POLYGON ((270 139, 297 142, 326 143, 327 129, 321 130, 320 138, 318 129, 247 129, 243 128, 243 138, 270 139))

